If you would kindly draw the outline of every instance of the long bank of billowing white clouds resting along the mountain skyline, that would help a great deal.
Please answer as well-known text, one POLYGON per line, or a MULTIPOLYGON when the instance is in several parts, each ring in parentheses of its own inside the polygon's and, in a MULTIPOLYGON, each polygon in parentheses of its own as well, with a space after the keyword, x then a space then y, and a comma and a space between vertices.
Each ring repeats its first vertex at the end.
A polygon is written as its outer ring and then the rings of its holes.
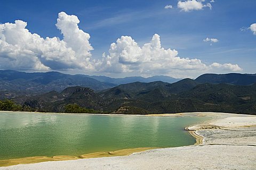
MULTIPOLYGON (((121 36, 110 45, 108 53, 95 60, 91 54, 90 35, 79 29, 78 23, 75 15, 59 13, 56 26, 63 39, 31 34, 26 29, 27 23, 21 20, 0 24, 0 69, 80 69, 86 74, 168 75, 180 78, 195 77, 204 72, 242 70, 237 64, 214 62, 207 65, 199 59, 182 58, 178 56, 178 51, 163 48, 157 34, 143 46, 139 46, 130 36, 121 36)), ((209 41, 216 40, 211 38, 209 41)))

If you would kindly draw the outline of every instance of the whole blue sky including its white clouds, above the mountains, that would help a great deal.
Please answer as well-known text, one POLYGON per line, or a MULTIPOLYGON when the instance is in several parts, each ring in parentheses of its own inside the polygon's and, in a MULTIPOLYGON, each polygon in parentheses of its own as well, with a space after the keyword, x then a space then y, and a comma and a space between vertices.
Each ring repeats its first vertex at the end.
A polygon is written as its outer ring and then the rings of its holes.
POLYGON ((1 0, 0 69, 109 77, 256 72, 256 1, 1 0))

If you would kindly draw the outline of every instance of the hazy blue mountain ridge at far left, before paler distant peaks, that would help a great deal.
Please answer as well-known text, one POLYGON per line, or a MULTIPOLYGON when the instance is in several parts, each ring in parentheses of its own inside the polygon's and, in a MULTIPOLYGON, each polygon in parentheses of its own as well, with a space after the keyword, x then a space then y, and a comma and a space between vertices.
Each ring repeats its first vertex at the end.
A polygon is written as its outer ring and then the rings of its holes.
POLYGON ((114 87, 82 75, 68 75, 60 72, 20 72, 0 70, 0 99, 13 98, 23 94, 43 94, 62 91, 70 86, 90 87, 95 91, 114 87))

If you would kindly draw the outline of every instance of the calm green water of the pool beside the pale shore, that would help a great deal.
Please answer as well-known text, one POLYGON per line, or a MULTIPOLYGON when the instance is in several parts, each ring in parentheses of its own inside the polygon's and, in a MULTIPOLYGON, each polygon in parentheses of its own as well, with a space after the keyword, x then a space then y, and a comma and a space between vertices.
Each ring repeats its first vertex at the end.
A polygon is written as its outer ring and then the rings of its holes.
POLYGON ((0 160, 189 145, 184 127, 205 119, 0 112, 0 160))

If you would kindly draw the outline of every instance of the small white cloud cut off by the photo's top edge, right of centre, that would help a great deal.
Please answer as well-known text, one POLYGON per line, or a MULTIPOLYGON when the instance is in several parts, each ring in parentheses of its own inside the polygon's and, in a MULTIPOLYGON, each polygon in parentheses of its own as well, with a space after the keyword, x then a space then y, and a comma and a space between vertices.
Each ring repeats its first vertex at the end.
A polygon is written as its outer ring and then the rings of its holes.
POLYGON ((204 1, 197 0, 187 0, 187 1, 179 1, 177 6, 181 11, 190 12, 193 10, 202 10, 204 7, 209 7, 212 9, 212 5, 210 3, 203 4, 204 1))

